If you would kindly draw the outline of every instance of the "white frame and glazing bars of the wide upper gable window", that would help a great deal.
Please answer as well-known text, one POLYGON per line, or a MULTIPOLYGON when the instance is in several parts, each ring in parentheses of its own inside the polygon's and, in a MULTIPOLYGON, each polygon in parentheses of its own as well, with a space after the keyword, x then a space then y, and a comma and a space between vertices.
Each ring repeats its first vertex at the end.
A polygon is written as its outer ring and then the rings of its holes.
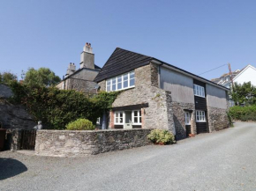
POLYGON ((117 77, 112 77, 112 78, 109 78, 109 79, 107 79, 106 80, 106 92, 116 92, 116 91, 121 91, 121 90, 127 90, 127 89, 130 89, 130 88, 132 88, 132 87, 135 87, 135 73, 134 73, 134 70, 132 70, 132 71, 130 71, 130 72, 127 72, 127 73, 124 73, 124 74, 122 74, 122 75, 119 75, 119 76, 117 76, 117 77), (134 74, 134 77, 133 78, 131 78, 131 79, 134 79, 134 85, 130 85, 130 76, 131 76, 131 74, 134 74), (124 88, 124 76, 125 75, 128 75, 128 86, 127 87, 125 87, 124 88), (117 89, 117 87, 118 87, 118 77, 122 77, 122 81, 121 81, 121 84, 122 84, 122 87, 121 87, 121 89, 117 89), (115 84, 115 86, 116 86, 116 90, 112 90, 112 81, 113 81, 113 79, 114 80, 116 80, 116 84, 115 84), (109 82, 109 85, 108 85, 108 82, 109 82), (109 87, 109 90, 108 90, 108 87, 109 87))

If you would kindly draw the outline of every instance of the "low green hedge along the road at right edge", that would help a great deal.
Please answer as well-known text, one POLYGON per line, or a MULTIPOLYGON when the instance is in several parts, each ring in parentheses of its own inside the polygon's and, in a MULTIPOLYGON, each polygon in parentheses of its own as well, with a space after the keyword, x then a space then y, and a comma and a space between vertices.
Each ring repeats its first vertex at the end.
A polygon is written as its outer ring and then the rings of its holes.
POLYGON ((256 106, 230 107, 229 114, 233 120, 256 121, 256 106))

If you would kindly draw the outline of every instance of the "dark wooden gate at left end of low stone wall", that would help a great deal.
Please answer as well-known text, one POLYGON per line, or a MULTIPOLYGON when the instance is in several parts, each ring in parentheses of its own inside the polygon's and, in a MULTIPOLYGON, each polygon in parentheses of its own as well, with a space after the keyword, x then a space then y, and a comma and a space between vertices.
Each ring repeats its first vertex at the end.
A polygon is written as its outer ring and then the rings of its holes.
POLYGON ((21 150, 34 150, 36 130, 23 130, 21 134, 21 150))

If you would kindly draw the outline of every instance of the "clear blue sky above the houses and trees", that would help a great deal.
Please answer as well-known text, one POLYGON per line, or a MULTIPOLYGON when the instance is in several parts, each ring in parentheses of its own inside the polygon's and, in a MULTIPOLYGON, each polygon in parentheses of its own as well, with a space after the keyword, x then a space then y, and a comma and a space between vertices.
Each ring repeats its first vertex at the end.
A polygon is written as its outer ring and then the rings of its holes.
MULTIPOLYGON (((0 71, 33 67, 63 77, 92 44, 103 66, 115 48, 153 56, 194 74, 230 62, 256 66, 256 1, 0 0, 0 71)), ((207 79, 228 66, 207 72, 207 79)))

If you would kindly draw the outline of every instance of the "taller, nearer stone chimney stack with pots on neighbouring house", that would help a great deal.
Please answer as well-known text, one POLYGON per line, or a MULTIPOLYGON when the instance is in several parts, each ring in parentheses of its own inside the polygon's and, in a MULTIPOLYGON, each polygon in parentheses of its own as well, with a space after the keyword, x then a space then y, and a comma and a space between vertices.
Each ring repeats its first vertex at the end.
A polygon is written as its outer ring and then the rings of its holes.
POLYGON ((80 57, 80 69, 94 69, 94 53, 91 43, 86 43, 80 57))

